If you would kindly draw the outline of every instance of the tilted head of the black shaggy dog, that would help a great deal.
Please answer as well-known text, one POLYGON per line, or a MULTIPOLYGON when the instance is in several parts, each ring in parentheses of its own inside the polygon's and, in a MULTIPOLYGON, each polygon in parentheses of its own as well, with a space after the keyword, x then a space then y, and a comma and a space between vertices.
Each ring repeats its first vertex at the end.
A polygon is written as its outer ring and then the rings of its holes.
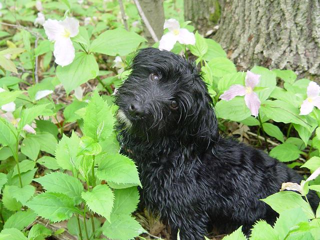
POLYGON ((135 135, 155 137, 217 132, 206 84, 185 58, 144 48, 137 52, 130 68, 130 75, 115 94, 117 119, 123 127, 135 135))

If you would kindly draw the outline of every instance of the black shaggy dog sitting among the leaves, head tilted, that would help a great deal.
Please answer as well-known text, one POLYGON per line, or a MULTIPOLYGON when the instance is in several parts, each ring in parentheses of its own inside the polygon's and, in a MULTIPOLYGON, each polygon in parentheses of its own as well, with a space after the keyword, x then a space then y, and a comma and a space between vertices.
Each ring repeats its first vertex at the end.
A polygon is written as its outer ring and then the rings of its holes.
MULTIPOLYGON (((259 199, 302 179, 261 150, 219 137, 212 99, 195 67, 169 51, 144 48, 118 89, 118 140, 138 165, 147 209, 183 240, 209 226, 248 232, 276 213, 259 199)), ((309 197, 316 207, 317 197, 309 197)))

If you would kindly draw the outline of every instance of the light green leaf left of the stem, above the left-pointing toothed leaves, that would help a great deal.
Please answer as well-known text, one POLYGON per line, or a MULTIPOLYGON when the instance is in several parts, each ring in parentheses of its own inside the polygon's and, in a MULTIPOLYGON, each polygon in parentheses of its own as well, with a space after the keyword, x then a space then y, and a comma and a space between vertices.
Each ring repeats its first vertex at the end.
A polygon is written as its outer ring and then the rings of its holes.
POLYGON ((80 138, 72 132, 71 137, 63 135, 55 150, 55 159, 63 169, 73 170, 77 166, 81 157, 77 156, 80 138))

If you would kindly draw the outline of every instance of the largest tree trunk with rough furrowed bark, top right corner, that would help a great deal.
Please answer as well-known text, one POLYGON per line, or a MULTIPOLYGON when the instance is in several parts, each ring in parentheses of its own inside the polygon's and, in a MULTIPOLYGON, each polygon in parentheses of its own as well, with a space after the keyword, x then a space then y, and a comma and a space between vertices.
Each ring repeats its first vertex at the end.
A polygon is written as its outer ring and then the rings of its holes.
POLYGON ((241 69, 320 76, 319 0, 225 0, 213 38, 241 69))

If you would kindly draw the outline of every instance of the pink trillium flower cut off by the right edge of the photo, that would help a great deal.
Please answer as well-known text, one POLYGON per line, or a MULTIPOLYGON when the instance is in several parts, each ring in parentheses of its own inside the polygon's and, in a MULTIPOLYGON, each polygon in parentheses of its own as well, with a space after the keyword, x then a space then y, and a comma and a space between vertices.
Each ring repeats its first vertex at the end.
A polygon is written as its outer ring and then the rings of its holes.
POLYGON ((320 109, 320 86, 314 81, 310 81, 308 87, 306 88, 306 99, 302 102, 300 107, 300 115, 307 115, 316 106, 320 109))

